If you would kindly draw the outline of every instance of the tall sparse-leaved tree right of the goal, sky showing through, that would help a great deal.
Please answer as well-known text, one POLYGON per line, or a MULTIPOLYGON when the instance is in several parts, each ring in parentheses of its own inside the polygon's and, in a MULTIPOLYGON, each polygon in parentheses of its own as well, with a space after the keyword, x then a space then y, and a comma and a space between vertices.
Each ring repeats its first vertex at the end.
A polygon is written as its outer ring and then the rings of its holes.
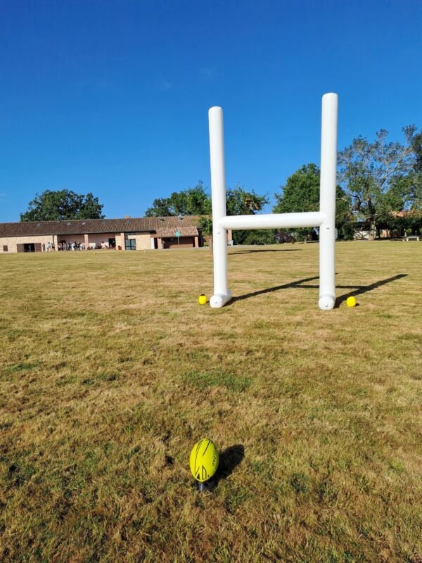
POLYGON ((416 126, 408 125, 402 131, 404 144, 388 142, 388 132, 381 129, 373 143, 357 137, 338 153, 340 185, 350 197, 357 219, 369 225, 371 239, 390 220, 391 211, 406 208, 411 199, 416 126))

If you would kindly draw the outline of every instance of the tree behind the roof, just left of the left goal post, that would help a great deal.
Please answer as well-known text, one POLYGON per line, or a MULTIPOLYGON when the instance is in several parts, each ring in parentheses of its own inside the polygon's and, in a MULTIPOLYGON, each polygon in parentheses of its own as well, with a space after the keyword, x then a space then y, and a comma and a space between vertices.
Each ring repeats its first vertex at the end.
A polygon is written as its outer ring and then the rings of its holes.
POLYGON ((174 191, 168 198, 158 198, 146 210, 146 217, 171 217, 172 215, 208 215, 211 213, 210 196, 203 183, 194 188, 174 191))

